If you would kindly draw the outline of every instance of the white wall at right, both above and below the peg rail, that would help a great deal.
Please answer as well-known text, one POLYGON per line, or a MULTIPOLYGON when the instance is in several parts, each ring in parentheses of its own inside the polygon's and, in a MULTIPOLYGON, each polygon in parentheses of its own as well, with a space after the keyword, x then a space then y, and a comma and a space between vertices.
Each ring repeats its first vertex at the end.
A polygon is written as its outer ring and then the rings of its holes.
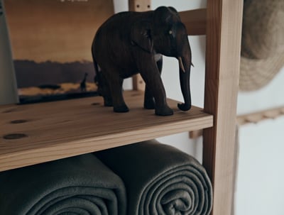
MULTIPOLYGON (((262 89, 239 92, 238 113, 284 106, 284 68, 262 89)), ((235 215, 283 215, 284 116, 239 129, 235 215)))

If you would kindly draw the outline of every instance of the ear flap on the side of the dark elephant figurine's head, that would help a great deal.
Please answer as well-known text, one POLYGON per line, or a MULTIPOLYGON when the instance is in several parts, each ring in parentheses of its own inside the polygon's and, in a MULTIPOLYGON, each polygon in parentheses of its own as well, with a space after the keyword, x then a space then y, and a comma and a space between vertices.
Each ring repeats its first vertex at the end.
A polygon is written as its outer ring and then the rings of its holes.
POLYGON ((153 53, 153 40, 151 38, 151 23, 137 21, 131 28, 131 43, 138 45, 148 53, 153 53))

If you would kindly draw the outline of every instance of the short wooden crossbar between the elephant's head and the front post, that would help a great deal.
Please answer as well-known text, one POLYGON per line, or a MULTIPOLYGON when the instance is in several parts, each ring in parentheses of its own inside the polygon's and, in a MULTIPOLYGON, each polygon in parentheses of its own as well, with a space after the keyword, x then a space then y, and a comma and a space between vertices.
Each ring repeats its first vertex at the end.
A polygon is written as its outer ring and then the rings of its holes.
POLYGON ((196 9, 179 12, 182 23, 187 28, 188 35, 206 34, 206 9, 196 9))

